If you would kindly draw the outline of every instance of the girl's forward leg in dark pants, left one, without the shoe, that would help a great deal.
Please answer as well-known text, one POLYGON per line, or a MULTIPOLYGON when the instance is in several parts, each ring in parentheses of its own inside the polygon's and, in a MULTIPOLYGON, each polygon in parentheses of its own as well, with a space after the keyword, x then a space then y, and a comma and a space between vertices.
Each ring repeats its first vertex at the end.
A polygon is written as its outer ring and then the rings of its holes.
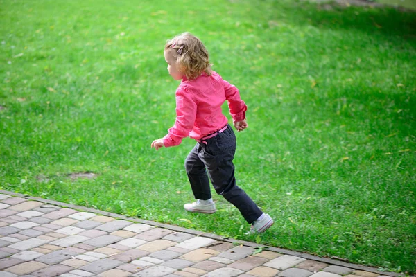
POLYGON ((185 159, 185 169, 195 199, 208 200, 212 197, 211 190, 205 164, 198 157, 199 148, 200 144, 196 143, 196 146, 189 152, 185 159))

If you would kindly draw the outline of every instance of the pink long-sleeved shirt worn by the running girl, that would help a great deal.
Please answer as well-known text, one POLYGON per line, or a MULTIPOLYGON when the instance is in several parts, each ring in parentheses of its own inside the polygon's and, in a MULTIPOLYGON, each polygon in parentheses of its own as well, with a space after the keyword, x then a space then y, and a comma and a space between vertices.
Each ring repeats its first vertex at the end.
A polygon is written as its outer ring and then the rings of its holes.
POLYGON ((195 80, 183 78, 176 90, 175 125, 164 136, 165 147, 179 145, 187 136, 201 139, 227 125, 221 105, 228 100, 229 114, 234 122, 245 119, 247 106, 239 90, 212 71, 195 80))

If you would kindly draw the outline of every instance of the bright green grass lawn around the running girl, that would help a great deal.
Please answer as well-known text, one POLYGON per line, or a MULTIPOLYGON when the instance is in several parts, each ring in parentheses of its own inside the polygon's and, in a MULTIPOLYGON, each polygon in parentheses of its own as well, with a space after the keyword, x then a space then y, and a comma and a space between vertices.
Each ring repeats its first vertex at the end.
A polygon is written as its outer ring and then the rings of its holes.
POLYGON ((183 210, 194 141, 150 149, 175 119, 164 43, 190 31, 248 104, 236 179, 275 219, 261 243, 416 272, 415 13, 2 0, 0 24, 3 189, 255 241, 218 195, 183 210))

